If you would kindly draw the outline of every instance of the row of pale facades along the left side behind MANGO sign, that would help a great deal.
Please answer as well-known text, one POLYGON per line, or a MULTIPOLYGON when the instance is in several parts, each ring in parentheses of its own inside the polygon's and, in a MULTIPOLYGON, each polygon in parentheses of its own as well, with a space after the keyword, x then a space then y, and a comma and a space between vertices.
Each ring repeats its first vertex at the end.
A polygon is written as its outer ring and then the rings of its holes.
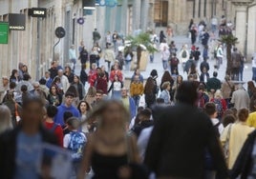
MULTIPOLYGON (((26 30, 10 30, 9 44, 0 44, 0 74, 10 75, 17 69, 18 63, 28 65, 33 79, 39 79, 50 68, 53 56, 65 65, 71 45, 78 48, 81 40, 88 50, 92 49, 92 32, 97 29, 101 34, 100 45, 108 30, 117 30, 120 34, 135 30, 146 30, 149 25, 152 3, 150 0, 118 0, 116 7, 101 7, 95 10, 83 10, 83 0, 0 0, 0 21, 8 21, 9 13, 26 15, 26 30), (151 6, 151 7, 150 7, 151 6), (28 15, 32 8, 47 9, 45 18, 28 15), (82 25, 76 21, 84 19, 82 25), (66 30, 66 36, 58 41, 54 35, 57 27, 66 30)), ((78 54, 77 54, 78 56, 78 54)))

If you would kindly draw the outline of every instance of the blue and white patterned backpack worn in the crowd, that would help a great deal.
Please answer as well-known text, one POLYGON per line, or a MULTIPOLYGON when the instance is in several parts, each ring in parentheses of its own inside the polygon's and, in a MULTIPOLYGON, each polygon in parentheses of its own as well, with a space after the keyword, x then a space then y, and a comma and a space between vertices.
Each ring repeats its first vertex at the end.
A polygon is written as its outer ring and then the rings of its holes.
POLYGON ((70 133, 71 140, 68 149, 72 151, 72 159, 74 161, 80 161, 82 159, 83 149, 86 144, 86 137, 79 131, 73 131, 70 133))

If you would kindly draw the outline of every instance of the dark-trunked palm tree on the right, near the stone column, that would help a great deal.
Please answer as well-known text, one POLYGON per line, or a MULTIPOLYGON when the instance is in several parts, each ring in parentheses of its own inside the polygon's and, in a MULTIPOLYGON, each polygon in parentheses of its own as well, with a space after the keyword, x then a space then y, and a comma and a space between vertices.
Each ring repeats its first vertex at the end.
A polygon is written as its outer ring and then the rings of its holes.
POLYGON ((234 35, 224 35, 222 36, 219 41, 226 46, 226 70, 225 73, 231 75, 231 68, 232 68, 232 47, 238 44, 238 38, 234 35))

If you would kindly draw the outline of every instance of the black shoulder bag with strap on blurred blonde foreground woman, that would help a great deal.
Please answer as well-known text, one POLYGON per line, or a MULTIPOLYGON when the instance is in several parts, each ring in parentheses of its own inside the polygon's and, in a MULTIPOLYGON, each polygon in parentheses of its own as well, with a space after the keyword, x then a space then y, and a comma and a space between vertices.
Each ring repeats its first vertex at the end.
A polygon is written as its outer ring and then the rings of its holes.
POLYGON ((131 134, 126 136, 128 167, 131 169, 131 179, 148 179, 149 170, 136 162, 135 146, 131 134))

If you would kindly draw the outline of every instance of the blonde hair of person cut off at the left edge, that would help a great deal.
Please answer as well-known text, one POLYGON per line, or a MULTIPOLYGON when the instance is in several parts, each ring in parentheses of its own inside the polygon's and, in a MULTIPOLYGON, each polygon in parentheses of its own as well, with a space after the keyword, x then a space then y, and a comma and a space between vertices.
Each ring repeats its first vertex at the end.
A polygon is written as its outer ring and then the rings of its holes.
POLYGON ((0 133, 7 129, 12 129, 11 110, 7 106, 0 106, 0 116, 0 133))

